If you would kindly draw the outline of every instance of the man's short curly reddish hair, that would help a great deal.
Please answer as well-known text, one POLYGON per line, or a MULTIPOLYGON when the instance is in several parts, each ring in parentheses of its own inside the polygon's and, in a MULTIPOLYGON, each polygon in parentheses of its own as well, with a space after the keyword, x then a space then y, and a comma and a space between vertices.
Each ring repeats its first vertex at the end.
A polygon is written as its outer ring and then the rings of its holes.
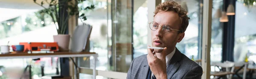
POLYGON ((177 13, 180 17, 181 21, 181 31, 185 32, 186 28, 189 25, 189 17, 187 16, 188 12, 185 9, 181 8, 181 6, 174 1, 166 1, 164 3, 160 3, 154 11, 154 16, 161 11, 173 11, 177 13))

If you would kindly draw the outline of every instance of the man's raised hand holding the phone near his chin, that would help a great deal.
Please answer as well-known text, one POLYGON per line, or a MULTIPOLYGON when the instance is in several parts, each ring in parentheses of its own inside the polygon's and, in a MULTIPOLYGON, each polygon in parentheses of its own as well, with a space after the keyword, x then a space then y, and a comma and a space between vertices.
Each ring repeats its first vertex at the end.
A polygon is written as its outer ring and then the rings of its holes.
POLYGON ((156 57, 154 49, 148 48, 148 65, 150 67, 151 72, 156 76, 157 79, 167 79, 166 73, 166 49, 164 48, 160 57, 156 57))

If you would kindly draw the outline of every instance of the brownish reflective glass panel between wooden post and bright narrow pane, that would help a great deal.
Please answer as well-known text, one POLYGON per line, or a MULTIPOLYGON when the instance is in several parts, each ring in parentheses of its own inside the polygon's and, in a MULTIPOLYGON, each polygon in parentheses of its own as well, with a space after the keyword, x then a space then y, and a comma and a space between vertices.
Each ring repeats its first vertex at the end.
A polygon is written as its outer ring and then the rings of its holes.
POLYGON ((132 59, 132 0, 112 2, 112 58, 114 71, 127 72, 132 59))

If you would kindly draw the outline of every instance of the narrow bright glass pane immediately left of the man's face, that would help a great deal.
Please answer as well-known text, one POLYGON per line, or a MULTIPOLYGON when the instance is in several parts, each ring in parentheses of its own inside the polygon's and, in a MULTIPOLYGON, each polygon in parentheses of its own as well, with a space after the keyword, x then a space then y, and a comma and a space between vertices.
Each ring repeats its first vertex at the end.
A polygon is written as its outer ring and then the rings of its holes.
POLYGON ((148 0, 134 1, 133 58, 147 54, 148 0))

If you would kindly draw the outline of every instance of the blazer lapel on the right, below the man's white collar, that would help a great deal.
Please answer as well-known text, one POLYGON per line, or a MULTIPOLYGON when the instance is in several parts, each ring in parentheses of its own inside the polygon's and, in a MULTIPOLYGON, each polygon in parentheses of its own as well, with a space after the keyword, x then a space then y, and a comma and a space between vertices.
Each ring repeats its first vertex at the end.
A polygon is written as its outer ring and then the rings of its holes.
POLYGON ((171 79, 174 73, 179 69, 180 63, 178 61, 181 60, 181 53, 176 48, 175 54, 172 56, 171 61, 169 62, 169 65, 167 66, 167 76, 168 79, 171 79))

